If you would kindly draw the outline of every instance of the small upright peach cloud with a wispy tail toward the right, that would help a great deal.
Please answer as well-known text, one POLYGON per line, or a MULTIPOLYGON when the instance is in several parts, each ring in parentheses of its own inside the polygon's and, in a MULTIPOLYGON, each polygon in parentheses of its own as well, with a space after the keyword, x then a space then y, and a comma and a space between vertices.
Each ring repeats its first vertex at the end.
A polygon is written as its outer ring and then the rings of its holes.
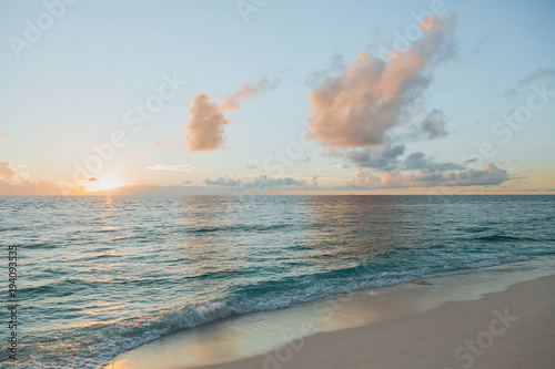
MULTIPOLYGON (((278 81, 271 83, 268 79, 260 80, 255 85, 245 83, 236 92, 228 93, 219 104, 211 102, 209 94, 199 93, 191 103, 189 121, 183 131, 189 148, 195 152, 222 147, 225 144, 223 129, 230 123, 226 115, 238 111, 244 100, 276 85, 278 81)), ((163 146, 163 142, 157 143, 163 146)))

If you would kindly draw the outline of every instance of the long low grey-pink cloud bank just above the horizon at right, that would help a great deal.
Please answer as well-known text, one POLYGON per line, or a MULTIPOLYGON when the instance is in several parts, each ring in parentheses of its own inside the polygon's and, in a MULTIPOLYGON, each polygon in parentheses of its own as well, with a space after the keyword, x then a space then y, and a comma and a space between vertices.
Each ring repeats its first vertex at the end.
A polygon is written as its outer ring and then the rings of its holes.
POLYGON ((398 188, 437 186, 494 186, 511 180, 507 172, 490 164, 483 170, 463 170, 425 174, 403 174, 401 171, 374 174, 373 171, 356 170, 347 182, 347 188, 398 188))

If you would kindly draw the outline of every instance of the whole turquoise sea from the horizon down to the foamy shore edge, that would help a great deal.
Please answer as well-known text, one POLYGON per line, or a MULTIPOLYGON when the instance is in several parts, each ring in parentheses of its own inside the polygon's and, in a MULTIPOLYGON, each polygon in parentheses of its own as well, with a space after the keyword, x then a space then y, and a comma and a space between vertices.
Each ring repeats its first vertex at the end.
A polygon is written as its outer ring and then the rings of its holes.
POLYGON ((17 367, 101 368, 232 315, 463 269, 552 265, 554 205, 555 196, 0 197, 2 249, 19 252, 17 367))

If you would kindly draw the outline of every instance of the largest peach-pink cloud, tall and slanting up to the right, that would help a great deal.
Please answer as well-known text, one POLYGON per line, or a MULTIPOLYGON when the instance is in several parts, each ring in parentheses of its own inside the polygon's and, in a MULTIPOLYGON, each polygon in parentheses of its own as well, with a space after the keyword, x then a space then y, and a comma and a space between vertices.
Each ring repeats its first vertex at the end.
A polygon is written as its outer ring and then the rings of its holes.
POLYGON ((361 51, 342 74, 325 79, 310 95, 312 139, 340 148, 384 143, 428 88, 428 72, 455 53, 455 17, 424 20, 422 39, 395 51, 390 63, 361 51))

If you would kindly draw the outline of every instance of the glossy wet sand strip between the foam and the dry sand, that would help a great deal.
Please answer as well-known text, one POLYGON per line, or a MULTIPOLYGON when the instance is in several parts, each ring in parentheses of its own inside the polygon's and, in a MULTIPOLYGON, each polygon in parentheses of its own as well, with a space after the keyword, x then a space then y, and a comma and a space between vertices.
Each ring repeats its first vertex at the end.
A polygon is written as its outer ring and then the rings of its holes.
MULTIPOLYGON (((345 331, 356 329, 373 331, 374 328, 369 327, 382 324, 396 326, 402 319, 430 314, 450 304, 476 303, 481 305, 481 301, 492 293, 511 295, 513 294, 509 293, 512 286, 523 280, 531 283, 529 280, 537 280, 538 277, 546 275, 555 278, 553 268, 547 270, 524 268, 507 271, 504 266, 497 266, 434 278, 421 278, 386 288, 359 290, 285 309, 251 312, 192 329, 174 331, 118 355, 105 368, 305 368, 307 362, 297 366, 295 357, 291 362, 284 363, 269 359, 272 361, 270 362, 266 359, 271 352, 278 353, 278 357, 280 357, 280 350, 285 350, 281 352, 282 356, 287 353, 287 347, 295 356, 303 357, 304 345, 309 345, 320 335, 330 335, 326 337, 330 337, 330 346, 333 348, 334 340, 349 341, 351 339, 350 337, 334 338, 335 335, 341 336, 345 331), (295 347, 299 348, 301 341, 303 349, 297 352, 295 347)), ((386 331, 382 335, 392 336, 386 331)), ((424 330, 422 337, 426 336, 424 330)), ((415 337, 415 339, 420 338, 415 337)), ((354 340, 361 339, 354 338, 354 340)), ((333 349, 330 350, 324 345, 315 351, 333 352, 333 349)), ((314 368, 326 368, 324 366, 326 362, 314 365, 314 368)), ((457 368, 456 363, 455 361, 452 365, 453 369, 457 368)), ((462 368, 462 366, 458 367, 462 368)))

